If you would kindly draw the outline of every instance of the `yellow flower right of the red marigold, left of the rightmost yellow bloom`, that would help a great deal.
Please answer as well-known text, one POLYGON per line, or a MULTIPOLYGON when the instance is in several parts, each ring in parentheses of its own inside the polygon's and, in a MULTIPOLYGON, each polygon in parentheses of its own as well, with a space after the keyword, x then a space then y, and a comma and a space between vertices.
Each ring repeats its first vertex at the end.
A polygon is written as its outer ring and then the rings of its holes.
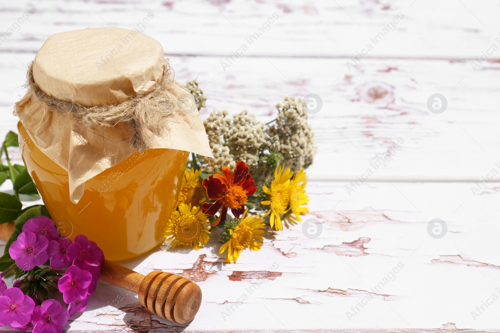
MULTIPOLYGON (((274 170, 274 179, 271 182, 270 188, 262 186, 264 193, 269 195, 269 200, 261 201, 264 206, 270 206, 270 209, 265 215, 270 214, 269 223, 271 228, 276 225, 276 230, 282 230, 281 214, 288 212, 288 203, 290 201, 290 178, 293 172, 289 168, 284 170, 284 167, 274 170)), ((264 215, 264 216, 265 216, 264 215)))

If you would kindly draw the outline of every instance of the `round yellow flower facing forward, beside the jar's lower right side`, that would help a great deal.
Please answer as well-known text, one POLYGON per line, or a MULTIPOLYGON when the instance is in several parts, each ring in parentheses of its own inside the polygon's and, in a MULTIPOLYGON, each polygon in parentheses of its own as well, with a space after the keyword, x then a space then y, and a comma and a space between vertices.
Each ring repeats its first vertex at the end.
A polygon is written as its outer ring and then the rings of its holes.
POLYGON ((165 237, 172 241, 172 248, 189 246, 199 250, 208 242, 209 229, 208 218, 199 207, 191 209, 191 204, 181 203, 168 220, 165 237))

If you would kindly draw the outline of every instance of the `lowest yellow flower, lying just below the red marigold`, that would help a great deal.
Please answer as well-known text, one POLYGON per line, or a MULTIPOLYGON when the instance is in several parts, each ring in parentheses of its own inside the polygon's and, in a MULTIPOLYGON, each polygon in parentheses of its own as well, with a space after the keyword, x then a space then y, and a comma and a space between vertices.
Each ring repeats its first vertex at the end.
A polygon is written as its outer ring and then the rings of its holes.
POLYGON ((241 216, 241 222, 234 229, 229 230, 229 240, 220 247, 219 253, 227 250, 225 261, 228 263, 235 263, 242 250, 248 248, 258 251, 262 245, 262 234, 264 233, 262 229, 265 228, 264 219, 260 215, 246 216, 247 211, 245 210, 241 216))

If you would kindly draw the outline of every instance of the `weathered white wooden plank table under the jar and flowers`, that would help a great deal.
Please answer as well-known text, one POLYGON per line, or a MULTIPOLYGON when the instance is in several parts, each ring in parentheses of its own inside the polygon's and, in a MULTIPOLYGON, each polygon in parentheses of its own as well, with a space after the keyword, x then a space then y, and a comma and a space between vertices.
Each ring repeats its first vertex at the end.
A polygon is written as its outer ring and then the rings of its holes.
POLYGON ((223 262, 214 240, 200 251, 157 248, 122 264, 197 282, 203 302, 190 324, 152 316, 135 295, 99 282, 67 330, 500 332, 500 177, 475 184, 500 171, 500 50, 475 71, 471 64, 500 46, 498 1, 38 1, 0 4, 1 31, 29 14, 0 45, 0 137, 15 129, 25 65, 49 35, 141 28, 149 12, 143 32, 162 43, 177 81, 198 78, 204 116, 246 109, 266 122, 285 95, 323 102, 309 118, 318 153, 304 217, 321 222, 318 237, 297 225, 237 264, 223 262), (270 29, 223 68, 273 13, 270 29), (370 38, 398 13, 395 30, 375 45, 370 38), (346 61, 368 43, 373 49, 349 70, 346 61), (447 100, 443 113, 427 108, 434 93, 447 100), (398 138, 375 170, 370 163, 398 138), (373 174, 349 195, 346 186, 368 168, 373 174), (435 218, 447 225, 440 239, 427 232, 435 218))

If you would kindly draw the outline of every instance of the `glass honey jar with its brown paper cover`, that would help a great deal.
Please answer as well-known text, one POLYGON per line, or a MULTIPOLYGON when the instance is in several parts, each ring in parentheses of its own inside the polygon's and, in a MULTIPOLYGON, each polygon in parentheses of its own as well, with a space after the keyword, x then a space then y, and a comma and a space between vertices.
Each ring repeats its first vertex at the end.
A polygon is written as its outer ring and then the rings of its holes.
POLYGON ((35 85, 14 108, 19 142, 59 233, 70 239, 85 235, 109 260, 136 257, 160 244, 189 152, 211 156, 194 98, 173 81, 161 44, 112 27, 56 33, 38 51, 28 82, 30 77, 35 85), (169 99, 156 103, 154 112, 151 103, 137 102, 135 118, 116 123, 89 125, 71 108, 58 109, 62 101, 84 110, 121 110, 130 98, 153 95, 158 87, 169 99), (155 132, 150 128, 166 114, 157 105, 175 108, 177 118, 155 132), (140 121, 153 123, 140 132, 152 133, 147 149, 134 148, 131 140, 132 125, 140 121))

